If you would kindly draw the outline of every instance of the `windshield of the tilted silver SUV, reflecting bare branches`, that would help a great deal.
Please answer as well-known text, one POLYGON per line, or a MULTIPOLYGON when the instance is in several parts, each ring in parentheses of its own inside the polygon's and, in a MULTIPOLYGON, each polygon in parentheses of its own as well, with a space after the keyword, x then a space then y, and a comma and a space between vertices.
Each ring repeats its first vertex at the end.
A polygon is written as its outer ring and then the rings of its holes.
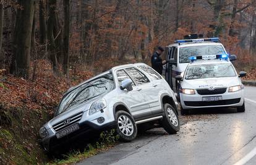
POLYGON ((106 74, 102 77, 96 78, 95 80, 84 83, 80 87, 77 87, 64 95, 61 103, 59 104, 56 116, 64 111, 67 111, 67 109, 79 106, 89 99, 108 93, 113 89, 114 80, 112 74, 106 74))

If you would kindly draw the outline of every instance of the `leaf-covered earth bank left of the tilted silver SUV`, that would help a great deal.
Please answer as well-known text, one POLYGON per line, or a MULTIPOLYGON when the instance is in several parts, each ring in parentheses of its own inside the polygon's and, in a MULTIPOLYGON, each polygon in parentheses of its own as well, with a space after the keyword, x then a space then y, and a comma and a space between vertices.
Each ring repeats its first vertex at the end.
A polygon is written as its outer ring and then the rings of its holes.
POLYGON ((63 93, 92 77, 70 70, 69 78, 56 76, 40 62, 35 80, 0 75, 0 164, 43 164, 48 157, 39 145, 38 131, 51 117, 63 93))

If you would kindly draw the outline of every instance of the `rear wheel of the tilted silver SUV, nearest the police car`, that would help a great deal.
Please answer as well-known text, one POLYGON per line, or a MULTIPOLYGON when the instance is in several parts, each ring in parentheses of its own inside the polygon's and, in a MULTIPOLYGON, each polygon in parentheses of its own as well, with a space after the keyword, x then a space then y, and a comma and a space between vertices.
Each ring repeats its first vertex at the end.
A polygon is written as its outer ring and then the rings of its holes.
POLYGON ((169 134, 179 131, 179 117, 176 110, 170 104, 164 104, 164 116, 162 120, 164 130, 169 134))

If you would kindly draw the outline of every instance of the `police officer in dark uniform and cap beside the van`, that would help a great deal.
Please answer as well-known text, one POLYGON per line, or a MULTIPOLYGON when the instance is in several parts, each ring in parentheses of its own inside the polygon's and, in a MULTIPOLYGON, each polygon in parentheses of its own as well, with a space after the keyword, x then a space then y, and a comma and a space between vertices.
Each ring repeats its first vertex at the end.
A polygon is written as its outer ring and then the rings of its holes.
POLYGON ((152 68, 156 70, 156 72, 158 72, 160 75, 163 72, 163 65, 166 64, 166 61, 162 61, 161 59, 161 54, 163 53, 164 49, 159 46, 158 50, 153 54, 153 56, 151 57, 151 65, 152 68))

